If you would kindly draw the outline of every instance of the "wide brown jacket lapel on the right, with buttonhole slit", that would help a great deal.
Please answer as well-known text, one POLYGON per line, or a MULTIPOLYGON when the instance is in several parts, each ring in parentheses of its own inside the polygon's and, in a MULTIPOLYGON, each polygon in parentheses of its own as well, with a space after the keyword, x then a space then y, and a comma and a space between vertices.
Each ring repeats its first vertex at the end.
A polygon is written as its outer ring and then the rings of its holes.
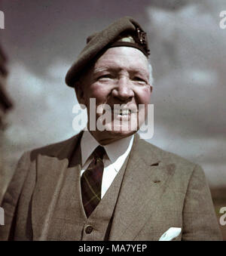
POLYGON ((115 208, 109 240, 133 240, 158 208, 172 177, 172 165, 160 161, 157 147, 136 135, 115 208))

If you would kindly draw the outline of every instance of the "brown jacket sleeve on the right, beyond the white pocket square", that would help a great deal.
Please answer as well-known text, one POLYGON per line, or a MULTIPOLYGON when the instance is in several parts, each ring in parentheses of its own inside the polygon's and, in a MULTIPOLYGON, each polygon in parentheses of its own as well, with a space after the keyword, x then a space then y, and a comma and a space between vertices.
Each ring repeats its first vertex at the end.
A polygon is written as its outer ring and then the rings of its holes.
POLYGON ((183 208, 182 240, 221 240, 212 197, 203 169, 196 165, 183 208))

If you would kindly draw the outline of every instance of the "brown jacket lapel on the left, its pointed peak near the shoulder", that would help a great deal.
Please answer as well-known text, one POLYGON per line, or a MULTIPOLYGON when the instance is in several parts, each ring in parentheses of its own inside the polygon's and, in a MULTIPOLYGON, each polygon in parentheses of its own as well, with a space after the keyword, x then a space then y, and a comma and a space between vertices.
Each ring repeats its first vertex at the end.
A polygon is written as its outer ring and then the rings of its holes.
MULTIPOLYGON (((69 169, 69 162, 75 148, 78 149, 81 134, 67 140, 62 147, 48 150, 49 153, 37 153, 37 173, 35 191, 32 196, 32 228, 34 240, 46 240, 51 217, 56 206, 60 190, 69 169)), ((80 149, 80 147, 79 147, 80 149)), ((81 153, 80 153, 81 156, 81 153)), ((74 161, 73 168, 79 168, 81 159, 74 161)))

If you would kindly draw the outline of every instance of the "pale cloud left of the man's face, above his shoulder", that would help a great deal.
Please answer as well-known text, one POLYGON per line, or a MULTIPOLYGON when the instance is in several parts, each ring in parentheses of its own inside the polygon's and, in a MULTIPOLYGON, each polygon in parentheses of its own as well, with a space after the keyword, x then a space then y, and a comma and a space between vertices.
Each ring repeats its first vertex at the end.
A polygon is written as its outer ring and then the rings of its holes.
MULTIPOLYGON (((11 66, 8 91, 15 108, 8 115, 11 123, 5 137, 9 144, 28 150, 63 140, 75 134, 72 130, 72 106, 75 92, 64 83, 63 60, 47 69, 46 76, 37 76, 23 63, 11 66)), ((17 147, 15 147, 17 150, 17 147)))

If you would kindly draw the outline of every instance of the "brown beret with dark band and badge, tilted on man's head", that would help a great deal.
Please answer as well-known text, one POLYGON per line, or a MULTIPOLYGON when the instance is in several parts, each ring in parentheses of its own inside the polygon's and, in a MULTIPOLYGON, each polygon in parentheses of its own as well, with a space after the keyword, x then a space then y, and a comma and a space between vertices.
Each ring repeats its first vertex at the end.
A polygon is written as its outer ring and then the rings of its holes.
POLYGON ((130 46, 138 48, 146 56, 149 54, 146 33, 139 23, 132 17, 122 17, 101 32, 96 32, 87 38, 87 45, 66 74, 66 84, 75 87, 75 82, 79 79, 81 72, 96 56, 99 56, 107 48, 117 46, 130 46), (115 42, 120 35, 126 34, 133 35, 135 42, 115 42))

